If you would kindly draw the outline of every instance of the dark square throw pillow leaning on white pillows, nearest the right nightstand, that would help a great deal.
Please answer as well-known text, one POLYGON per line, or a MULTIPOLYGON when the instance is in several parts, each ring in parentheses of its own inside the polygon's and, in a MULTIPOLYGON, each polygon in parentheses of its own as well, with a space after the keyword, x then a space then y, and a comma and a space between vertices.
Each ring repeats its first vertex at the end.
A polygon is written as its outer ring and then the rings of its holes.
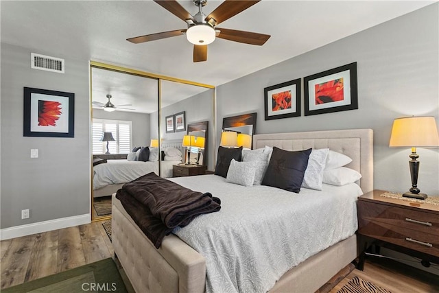
POLYGON ((273 147, 262 185, 278 187, 298 194, 311 150, 310 148, 294 152, 273 147))

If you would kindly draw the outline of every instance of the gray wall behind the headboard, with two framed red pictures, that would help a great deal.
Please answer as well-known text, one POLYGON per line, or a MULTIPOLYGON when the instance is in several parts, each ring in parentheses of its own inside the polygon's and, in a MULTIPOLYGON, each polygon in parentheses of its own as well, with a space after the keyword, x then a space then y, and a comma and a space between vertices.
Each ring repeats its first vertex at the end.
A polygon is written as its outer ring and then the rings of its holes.
MULTIPOLYGON (((389 148, 390 132, 396 117, 431 115, 439 122, 438 27, 434 3, 218 86, 217 138, 222 118, 235 113, 257 112, 257 133, 372 128, 375 188, 407 191, 410 149, 389 148), (358 110, 305 117, 302 103, 301 117, 264 121, 265 87, 351 62, 357 62, 358 110)), ((418 148, 418 154, 418 187, 439 195, 438 149, 418 148)))

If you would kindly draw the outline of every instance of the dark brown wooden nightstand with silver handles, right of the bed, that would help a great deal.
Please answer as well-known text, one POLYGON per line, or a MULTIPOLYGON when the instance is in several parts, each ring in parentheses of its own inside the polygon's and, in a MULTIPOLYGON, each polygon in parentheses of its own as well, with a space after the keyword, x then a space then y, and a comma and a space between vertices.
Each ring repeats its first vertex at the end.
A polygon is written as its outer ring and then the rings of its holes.
POLYGON ((381 196, 370 191, 357 201, 359 270, 375 244, 439 263, 439 205, 381 196))

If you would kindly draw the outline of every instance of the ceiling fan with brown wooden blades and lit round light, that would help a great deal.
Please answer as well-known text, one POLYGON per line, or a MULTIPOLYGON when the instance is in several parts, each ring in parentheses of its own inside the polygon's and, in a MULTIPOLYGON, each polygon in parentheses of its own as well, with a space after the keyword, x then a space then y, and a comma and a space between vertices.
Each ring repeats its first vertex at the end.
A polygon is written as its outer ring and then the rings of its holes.
POLYGON ((127 38, 127 40, 131 43, 139 44, 151 40, 160 40, 162 38, 186 34, 187 40, 193 44, 193 62, 207 60, 207 45, 212 43, 215 38, 224 38, 226 40, 233 40, 234 42, 261 46, 270 38, 270 35, 216 27, 219 23, 230 19, 230 17, 250 8, 250 6, 259 1, 261 0, 226 0, 213 10, 211 14, 206 16, 202 12, 202 7, 206 5, 207 0, 193 0, 193 3, 198 6, 198 13, 192 16, 176 0, 154 0, 158 5, 161 5, 179 19, 185 21, 187 23, 187 29, 147 34, 145 36, 127 38))

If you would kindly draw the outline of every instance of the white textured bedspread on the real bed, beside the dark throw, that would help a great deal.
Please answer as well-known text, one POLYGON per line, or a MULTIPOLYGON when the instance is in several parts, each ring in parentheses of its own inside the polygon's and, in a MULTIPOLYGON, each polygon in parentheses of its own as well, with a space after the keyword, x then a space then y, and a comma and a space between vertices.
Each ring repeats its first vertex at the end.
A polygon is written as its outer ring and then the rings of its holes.
POLYGON ((221 199, 219 212, 173 231, 206 257, 206 292, 267 292, 289 268, 357 230, 356 184, 294 194, 215 175, 170 180, 221 199))

